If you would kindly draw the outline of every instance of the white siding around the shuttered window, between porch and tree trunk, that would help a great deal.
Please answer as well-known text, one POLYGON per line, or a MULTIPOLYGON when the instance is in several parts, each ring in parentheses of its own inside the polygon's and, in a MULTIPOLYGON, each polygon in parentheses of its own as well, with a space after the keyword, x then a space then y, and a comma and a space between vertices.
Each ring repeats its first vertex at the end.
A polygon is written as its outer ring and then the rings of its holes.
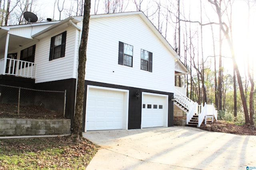
POLYGON ((74 77, 74 54, 76 29, 70 26, 51 36, 40 39, 36 44, 35 63, 37 63, 36 83, 64 80, 74 77), (51 37, 67 31, 65 57, 49 61, 51 37))

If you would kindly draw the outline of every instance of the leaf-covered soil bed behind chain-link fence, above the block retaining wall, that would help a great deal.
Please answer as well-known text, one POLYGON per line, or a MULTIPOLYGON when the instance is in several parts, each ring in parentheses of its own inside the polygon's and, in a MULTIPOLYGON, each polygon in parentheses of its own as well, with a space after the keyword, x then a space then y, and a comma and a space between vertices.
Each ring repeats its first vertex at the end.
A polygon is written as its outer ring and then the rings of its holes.
POLYGON ((63 113, 48 110, 42 106, 18 106, 15 104, 0 104, 0 118, 19 119, 65 119, 63 113))

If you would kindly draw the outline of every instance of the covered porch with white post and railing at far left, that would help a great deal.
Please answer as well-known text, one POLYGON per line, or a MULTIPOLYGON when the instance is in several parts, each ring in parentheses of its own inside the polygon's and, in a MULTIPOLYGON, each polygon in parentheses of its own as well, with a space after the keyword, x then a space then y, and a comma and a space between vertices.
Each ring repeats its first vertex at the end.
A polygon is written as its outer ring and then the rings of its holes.
POLYGON ((20 35, 22 33, 10 31, 8 26, 0 27, 0 75, 35 79, 37 64, 21 59, 20 55, 23 46, 36 40, 20 35))

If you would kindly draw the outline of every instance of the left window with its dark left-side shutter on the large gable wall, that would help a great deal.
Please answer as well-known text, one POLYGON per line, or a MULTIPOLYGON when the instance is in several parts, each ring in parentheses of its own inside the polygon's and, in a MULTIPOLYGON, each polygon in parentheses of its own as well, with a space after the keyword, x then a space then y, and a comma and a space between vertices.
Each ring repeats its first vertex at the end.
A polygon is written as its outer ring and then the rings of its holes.
POLYGON ((133 46, 119 41, 118 64, 132 67, 133 46))

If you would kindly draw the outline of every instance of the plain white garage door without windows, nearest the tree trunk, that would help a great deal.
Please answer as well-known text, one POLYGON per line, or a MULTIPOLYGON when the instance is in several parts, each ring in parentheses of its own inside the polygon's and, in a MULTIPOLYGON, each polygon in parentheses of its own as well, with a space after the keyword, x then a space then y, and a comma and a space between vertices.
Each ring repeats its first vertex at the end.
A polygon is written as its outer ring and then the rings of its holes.
POLYGON ((123 128, 124 92, 89 88, 86 131, 123 128))

